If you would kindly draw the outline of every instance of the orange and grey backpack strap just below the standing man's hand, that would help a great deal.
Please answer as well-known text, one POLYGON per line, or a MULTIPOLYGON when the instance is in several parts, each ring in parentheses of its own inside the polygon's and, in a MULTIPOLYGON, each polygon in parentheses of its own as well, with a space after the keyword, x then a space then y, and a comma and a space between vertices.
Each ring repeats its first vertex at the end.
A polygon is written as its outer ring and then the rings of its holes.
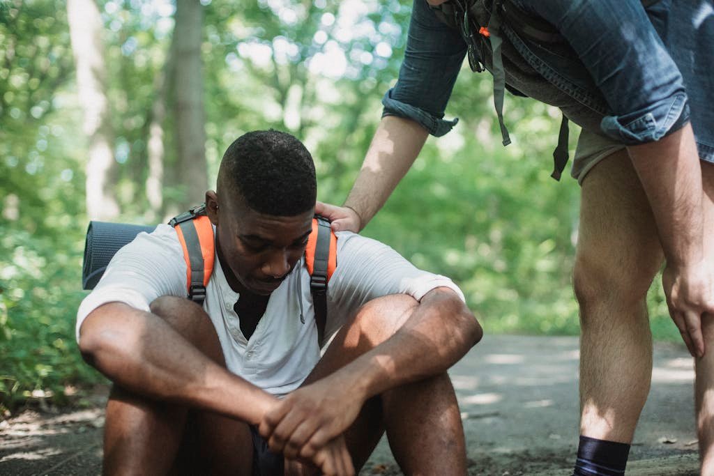
POLYGON ((310 273, 318 345, 322 347, 327 324, 327 285, 337 267, 337 237, 330 222, 321 216, 313 218, 313 231, 305 248, 305 263, 310 273))

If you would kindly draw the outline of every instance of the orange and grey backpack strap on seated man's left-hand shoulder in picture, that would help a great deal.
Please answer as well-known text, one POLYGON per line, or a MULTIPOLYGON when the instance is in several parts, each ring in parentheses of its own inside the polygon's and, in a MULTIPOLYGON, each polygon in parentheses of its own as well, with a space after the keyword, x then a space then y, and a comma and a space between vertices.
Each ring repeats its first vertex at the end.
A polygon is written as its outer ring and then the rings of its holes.
POLYGON ((206 286, 213 273, 213 258, 216 255, 213 225, 206 216, 206 206, 191 208, 171 218, 169 225, 176 230, 178 242, 183 248, 188 299, 203 304, 206 299, 206 286))

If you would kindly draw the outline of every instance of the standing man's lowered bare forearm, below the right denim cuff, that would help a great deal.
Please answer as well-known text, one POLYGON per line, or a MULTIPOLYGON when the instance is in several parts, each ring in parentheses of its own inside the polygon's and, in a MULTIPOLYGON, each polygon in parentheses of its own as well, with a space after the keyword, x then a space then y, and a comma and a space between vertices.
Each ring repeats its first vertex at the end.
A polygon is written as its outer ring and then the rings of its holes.
POLYGON ((702 176, 689 124, 658 142, 628 148, 652 206, 668 265, 703 259, 702 176))

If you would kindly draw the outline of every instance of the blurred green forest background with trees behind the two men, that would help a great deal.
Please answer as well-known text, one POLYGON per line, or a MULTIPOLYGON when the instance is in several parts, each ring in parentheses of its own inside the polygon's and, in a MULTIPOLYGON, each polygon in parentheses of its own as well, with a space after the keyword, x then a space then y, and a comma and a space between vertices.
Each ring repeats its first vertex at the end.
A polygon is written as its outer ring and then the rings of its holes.
MULTIPOLYGON (((238 136, 276 128, 341 203, 396 81, 409 0, 0 0, 0 420, 103 381, 74 340, 90 219, 201 203, 238 136)), ((486 333, 578 333, 578 184, 550 178, 560 113, 465 64, 447 118, 363 231, 451 276, 486 333)), ((571 126, 571 155, 577 130, 571 126)), ((636 243, 633 243, 636 246, 636 243)), ((679 340, 655 280, 653 335, 679 340)))

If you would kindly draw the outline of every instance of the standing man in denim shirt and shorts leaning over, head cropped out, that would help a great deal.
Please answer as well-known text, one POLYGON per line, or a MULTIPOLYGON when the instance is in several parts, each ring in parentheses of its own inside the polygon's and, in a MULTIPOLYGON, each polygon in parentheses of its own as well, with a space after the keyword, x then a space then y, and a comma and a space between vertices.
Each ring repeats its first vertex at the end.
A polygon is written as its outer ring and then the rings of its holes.
POLYGON ((504 144, 504 88, 583 128, 572 168, 582 186, 577 475, 625 470, 650 388, 645 297, 663 260, 670 314, 695 357, 702 474, 714 475, 713 44, 711 0, 415 0, 399 79, 356 183, 342 208, 318 204, 333 229, 363 228, 428 134, 456 123, 443 114, 467 55, 474 71, 493 73, 504 144))

